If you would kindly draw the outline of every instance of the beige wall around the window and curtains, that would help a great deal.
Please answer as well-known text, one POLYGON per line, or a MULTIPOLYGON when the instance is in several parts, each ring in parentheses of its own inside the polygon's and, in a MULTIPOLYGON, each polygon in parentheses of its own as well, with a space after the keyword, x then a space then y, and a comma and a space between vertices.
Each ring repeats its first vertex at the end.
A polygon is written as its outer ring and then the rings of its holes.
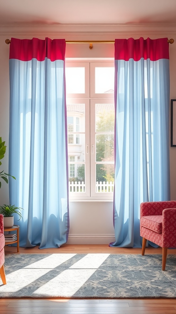
MULTIPOLYGON (((176 99, 176 30, 172 26, 93 25, 93 26, 1 26, 0 27, 0 136, 6 141, 3 165, 8 171, 9 135, 9 45, 5 39, 45 37, 69 40, 114 40, 115 38, 168 37, 174 39, 170 51, 170 99, 176 99), (32 35, 31 35, 32 34, 32 35)), ((114 57, 113 44, 67 44, 66 57, 114 57)), ((170 146, 170 138, 168 139, 170 146)), ((170 147, 171 199, 176 199, 176 147, 170 147)), ((0 189, 0 204, 8 203, 8 185, 0 189)), ((68 243, 109 243, 114 241, 112 202, 70 202, 70 236, 68 243), (101 217, 101 219, 100 219, 101 217)))

